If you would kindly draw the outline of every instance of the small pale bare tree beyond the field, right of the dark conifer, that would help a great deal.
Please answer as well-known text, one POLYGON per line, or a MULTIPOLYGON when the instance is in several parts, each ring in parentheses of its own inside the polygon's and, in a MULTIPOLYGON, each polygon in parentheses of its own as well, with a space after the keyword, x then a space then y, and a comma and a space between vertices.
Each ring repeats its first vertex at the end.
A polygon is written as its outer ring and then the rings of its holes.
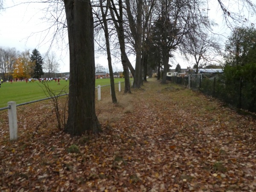
POLYGON ((53 77, 53 73, 58 72, 59 66, 55 52, 49 52, 44 58, 44 67, 51 77, 53 77))

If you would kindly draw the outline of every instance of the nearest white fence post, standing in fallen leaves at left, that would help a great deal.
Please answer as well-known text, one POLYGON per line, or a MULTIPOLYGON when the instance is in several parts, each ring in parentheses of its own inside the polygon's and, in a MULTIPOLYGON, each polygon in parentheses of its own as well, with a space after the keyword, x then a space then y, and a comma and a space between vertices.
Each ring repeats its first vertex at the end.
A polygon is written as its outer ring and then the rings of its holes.
POLYGON ((18 138, 16 102, 8 102, 8 106, 11 107, 8 109, 8 112, 9 112, 10 140, 12 141, 12 140, 17 140, 18 138))

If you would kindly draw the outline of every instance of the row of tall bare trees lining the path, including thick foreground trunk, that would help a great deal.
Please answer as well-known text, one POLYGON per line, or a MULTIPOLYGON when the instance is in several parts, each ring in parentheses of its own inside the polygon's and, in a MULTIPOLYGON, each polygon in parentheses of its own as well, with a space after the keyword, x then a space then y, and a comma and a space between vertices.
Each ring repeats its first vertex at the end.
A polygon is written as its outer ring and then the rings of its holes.
MULTIPOLYGON (((237 1, 247 3, 247 10, 252 8, 255 11, 255 5, 250 0, 237 1)), ((241 19, 242 14, 231 12, 222 0, 217 2, 224 19, 241 19)), ((169 59, 175 50, 179 49, 185 54, 194 44, 201 48, 201 40, 210 41, 206 35, 213 23, 209 20, 207 9, 204 9, 207 8, 207 1, 52 0, 47 3, 47 11, 51 12, 49 19, 55 19, 53 23, 56 33, 53 38, 63 39, 67 32, 69 39, 69 116, 64 130, 72 135, 100 131, 95 113, 94 38, 108 56, 113 102, 116 102, 113 91, 113 55, 120 55, 125 93, 131 93, 129 70, 134 77, 134 88, 140 88, 143 84, 148 66, 158 66, 158 69, 163 66, 162 83, 166 83, 169 59), (64 10, 65 15, 62 15, 64 10), (103 40, 103 45, 100 40, 103 40), (135 55, 135 68, 128 59, 129 54, 135 55)), ((205 58, 202 52, 197 51, 196 54, 205 58)))

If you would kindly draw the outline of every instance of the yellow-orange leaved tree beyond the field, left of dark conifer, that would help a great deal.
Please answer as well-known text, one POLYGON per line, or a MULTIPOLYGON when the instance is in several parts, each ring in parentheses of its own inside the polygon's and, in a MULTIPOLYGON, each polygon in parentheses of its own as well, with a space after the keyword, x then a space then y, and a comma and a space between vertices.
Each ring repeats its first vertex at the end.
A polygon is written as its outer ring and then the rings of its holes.
POLYGON ((13 78, 29 79, 32 76, 35 62, 31 62, 29 57, 29 51, 24 51, 16 59, 12 74, 13 78))

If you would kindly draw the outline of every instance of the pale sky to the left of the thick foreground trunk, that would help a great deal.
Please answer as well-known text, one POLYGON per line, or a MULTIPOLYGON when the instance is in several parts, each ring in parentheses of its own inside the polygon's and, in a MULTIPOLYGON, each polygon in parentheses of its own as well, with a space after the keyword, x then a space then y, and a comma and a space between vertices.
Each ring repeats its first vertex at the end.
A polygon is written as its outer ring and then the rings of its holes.
MULTIPOLYGON (((18 4, 20 0, 4 0, 4 7, 18 4)), ((45 3, 22 4, 8 8, 0 13, 0 47, 14 47, 18 51, 38 49, 42 56, 47 52, 49 43, 43 41, 44 34, 32 33, 47 29, 47 23, 40 19, 43 13, 40 12, 45 3), (42 43, 41 43, 42 42, 42 43)), ((50 38, 50 37, 48 37, 50 38)), ((69 71, 69 55, 53 47, 56 58, 60 64, 60 72, 69 71)))

